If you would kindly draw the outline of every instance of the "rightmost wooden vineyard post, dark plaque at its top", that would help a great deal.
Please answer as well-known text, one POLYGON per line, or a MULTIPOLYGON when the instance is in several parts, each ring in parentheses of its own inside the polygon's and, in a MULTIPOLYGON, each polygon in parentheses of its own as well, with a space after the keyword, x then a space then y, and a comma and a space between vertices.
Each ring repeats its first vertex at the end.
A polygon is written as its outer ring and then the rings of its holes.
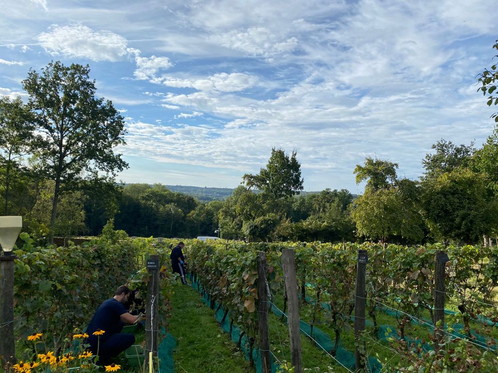
POLYGON ((435 350, 439 350, 439 345, 444 340, 444 301, 446 294, 446 286, 444 283, 446 262, 448 255, 444 251, 436 253, 436 271, 434 273, 434 325, 438 321, 441 322, 439 328, 434 328, 435 350))

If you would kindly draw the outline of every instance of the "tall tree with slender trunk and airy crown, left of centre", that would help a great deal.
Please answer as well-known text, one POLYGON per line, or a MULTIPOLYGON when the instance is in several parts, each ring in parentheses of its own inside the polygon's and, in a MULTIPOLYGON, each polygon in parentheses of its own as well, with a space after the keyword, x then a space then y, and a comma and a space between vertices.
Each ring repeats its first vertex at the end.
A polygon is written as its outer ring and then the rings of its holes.
POLYGON ((57 204, 64 189, 81 179, 81 173, 97 171, 116 176, 128 165, 113 148, 124 142, 124 118, 104 98, 97 98, 89 66, 51 62, 41 74, 31 69, 22 82, 29 94, 28 105, 35 114, 38 131, 45 141, 37 149, 44 176, 55 182, 50 215, 51 233, 57 204))

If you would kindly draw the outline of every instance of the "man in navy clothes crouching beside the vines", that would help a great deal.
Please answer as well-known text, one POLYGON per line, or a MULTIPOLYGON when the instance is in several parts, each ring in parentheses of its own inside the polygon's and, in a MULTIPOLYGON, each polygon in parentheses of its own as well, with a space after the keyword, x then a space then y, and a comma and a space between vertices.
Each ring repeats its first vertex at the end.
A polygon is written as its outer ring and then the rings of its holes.
POLYGON ((105 300, 95 312, 87 327, 87 343, 94 355, 99 355, 99 365, 111 363, 111 359, 135 342, 135 336, 121 333, 124 323, 133 324, 140 316, 131 315, 124 307, 129 298, 127 286, 120 286, 114 297, 105 300), (102 333, 104 331, 104 333, 102 333), (94 334, 95 333, 95 334, 94 334))

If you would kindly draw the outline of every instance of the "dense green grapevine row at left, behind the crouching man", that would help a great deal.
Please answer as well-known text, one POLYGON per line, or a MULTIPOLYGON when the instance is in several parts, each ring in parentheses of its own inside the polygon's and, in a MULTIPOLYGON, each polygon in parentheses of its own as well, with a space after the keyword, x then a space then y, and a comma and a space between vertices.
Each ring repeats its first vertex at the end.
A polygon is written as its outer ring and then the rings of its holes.
POLYGON ((72 328, 82 330, 99 304, 127 282, 136 271, 138 248, 131 240, 111 243, 93 240, 69 248, 34 247, 21 233, 22 248, 15 251, 14 312, 23 339, 33 332, 63 347, 72 328), (119 260, 117 260, 119 258, 119 260), (36 294, 36 296, 33 296, 36 294))

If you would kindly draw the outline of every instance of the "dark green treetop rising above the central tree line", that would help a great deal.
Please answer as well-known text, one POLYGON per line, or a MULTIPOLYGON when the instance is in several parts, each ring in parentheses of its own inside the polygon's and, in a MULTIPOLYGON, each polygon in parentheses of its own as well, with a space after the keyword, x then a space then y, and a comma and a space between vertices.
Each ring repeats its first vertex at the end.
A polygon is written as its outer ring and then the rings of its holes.
POLYGON ((303 190, 301 165, 295 151, 289 157, 283 149, 272 148, 266 168, 256 175, 244 174, 243 180, 248 189, 255 187, 274 199, 290 197, 303 190))

